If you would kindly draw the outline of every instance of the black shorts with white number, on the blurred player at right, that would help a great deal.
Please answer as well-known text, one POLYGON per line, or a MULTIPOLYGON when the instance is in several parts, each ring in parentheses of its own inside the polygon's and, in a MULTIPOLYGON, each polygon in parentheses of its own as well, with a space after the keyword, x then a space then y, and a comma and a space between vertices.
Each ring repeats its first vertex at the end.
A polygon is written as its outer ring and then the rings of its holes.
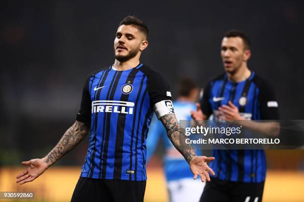
POLYGON ((230 182, 211 178, 200 202, 261 202, 264 182, 230 182))

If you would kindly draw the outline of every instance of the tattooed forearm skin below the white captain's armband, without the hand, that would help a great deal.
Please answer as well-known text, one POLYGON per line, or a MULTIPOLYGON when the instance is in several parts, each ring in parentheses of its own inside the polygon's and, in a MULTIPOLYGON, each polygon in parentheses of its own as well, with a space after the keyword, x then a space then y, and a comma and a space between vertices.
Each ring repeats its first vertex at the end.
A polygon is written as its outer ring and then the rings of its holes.
POLYGON ((180 128, 175 114, 167 114, 159 119, 167 131, 167 136, 174 145, 174 147, 180 152, 184 158, 190 163, 190 160, 196 156, 192 146, 185 142, 185 130, 180 128))

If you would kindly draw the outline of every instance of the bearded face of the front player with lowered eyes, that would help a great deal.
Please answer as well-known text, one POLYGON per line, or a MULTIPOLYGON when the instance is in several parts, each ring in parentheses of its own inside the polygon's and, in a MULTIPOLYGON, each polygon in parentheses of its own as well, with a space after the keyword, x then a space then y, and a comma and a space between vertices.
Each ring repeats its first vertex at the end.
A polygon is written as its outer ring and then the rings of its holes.
POLYGON ((142 32, 132 25, 121 25, 118 27, 114 40, 114 52, 118 61, 124 62, 144 50, 148 46, 146 37, 142 32), (147 46, 143 47, 144 42, 147 46))

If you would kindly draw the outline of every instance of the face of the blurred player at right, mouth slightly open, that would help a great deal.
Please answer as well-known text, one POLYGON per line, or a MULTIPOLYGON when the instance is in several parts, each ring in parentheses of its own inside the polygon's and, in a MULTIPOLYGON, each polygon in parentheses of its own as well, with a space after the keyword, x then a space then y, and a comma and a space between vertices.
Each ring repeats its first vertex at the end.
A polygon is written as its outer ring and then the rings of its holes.
POLYGON ((225 71, 233 74, 250 57, 250 50, 244 49, 243 40, 240 37, 224 37, 221 47, 221 55, 225 71))

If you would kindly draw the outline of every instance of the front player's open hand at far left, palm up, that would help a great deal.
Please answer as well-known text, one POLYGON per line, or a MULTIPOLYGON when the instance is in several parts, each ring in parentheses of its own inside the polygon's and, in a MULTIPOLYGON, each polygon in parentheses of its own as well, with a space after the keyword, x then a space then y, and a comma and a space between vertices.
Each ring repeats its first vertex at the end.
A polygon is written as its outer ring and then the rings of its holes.
POLYGON ((32 182, 34 179, 39 177, 46 169, 48 169, 48 164, 40 158, 32 159, 29 161, 23 161, 22 165, 29 165, 29 167, 17 175, 16 183, 20 185, 32 182))

